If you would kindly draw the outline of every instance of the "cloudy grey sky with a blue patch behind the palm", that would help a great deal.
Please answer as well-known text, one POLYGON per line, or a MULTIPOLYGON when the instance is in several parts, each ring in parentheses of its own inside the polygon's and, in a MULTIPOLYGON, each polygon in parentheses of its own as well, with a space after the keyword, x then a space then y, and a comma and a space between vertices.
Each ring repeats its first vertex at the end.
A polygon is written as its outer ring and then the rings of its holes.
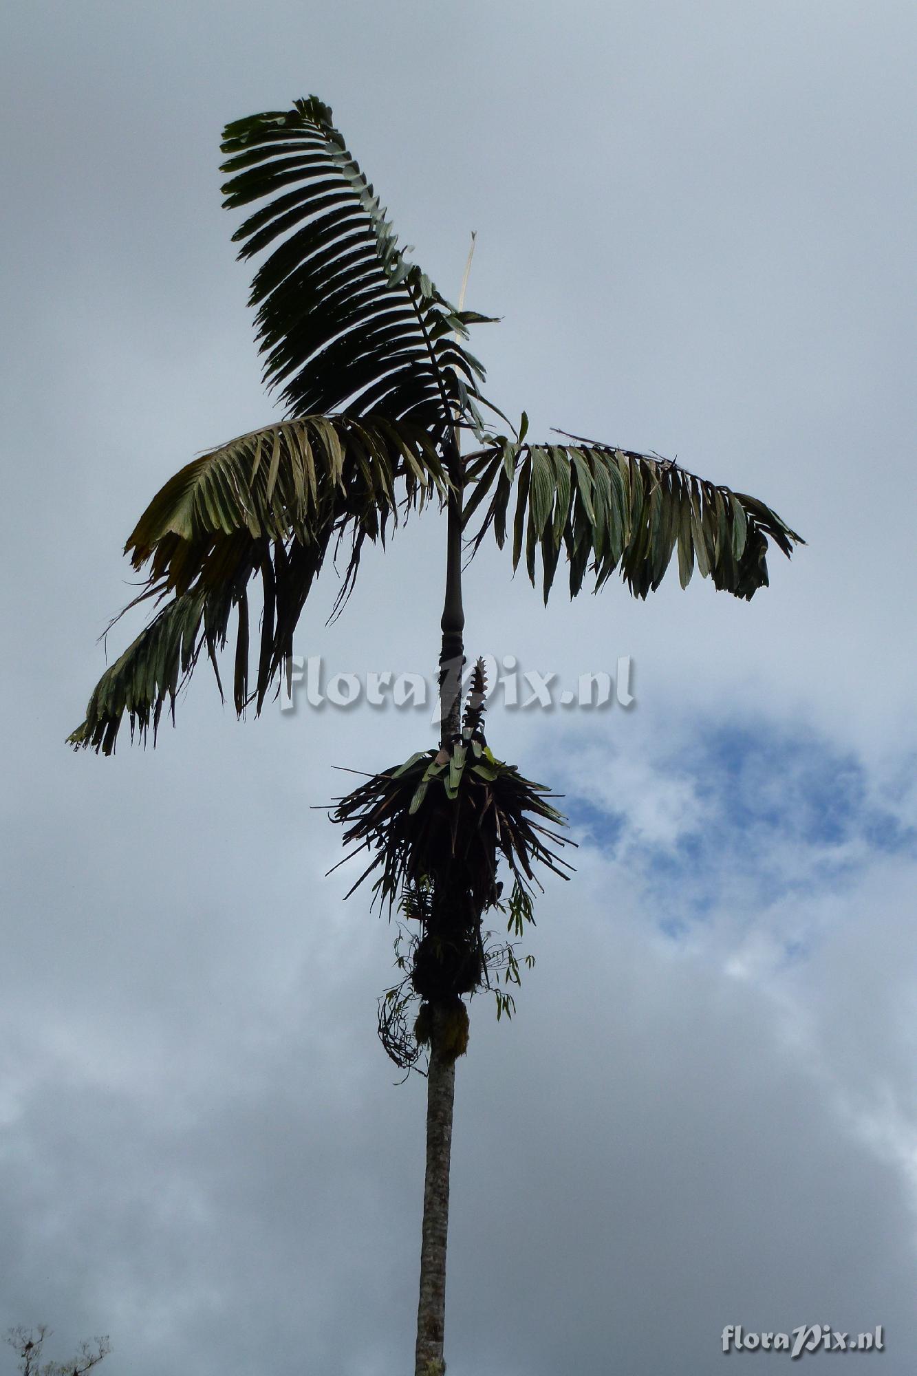
MULTIPOLYGON (((240 724, 201 666, 154 750, 65 746, 136 516, 280 414, 219 135, 317 94, 447 296, 476 231, 508 416, 677 457, 807 539, 752 603, 671 574, 544 608, 507 550, 468 570, 468 651, 515 656, 520 700, 629 659, 633 702, 490 703, 578 849, 516 1015, 471 1004, 449 1376, 706 1376, 730 1324, 883 1325, 910 1373, 913 6, 11 0, 0 28, 0 1329, 109 1333, 110 1376, 413 1353, 424 1082, 376 1040, 394 932, 325 877, 322 805, 335 766, 425 749, 430 705, 297 687, 240 724)), ((372 550, 332 626, 328 568, 297 654, 428 676, 442 537, 372 550)))

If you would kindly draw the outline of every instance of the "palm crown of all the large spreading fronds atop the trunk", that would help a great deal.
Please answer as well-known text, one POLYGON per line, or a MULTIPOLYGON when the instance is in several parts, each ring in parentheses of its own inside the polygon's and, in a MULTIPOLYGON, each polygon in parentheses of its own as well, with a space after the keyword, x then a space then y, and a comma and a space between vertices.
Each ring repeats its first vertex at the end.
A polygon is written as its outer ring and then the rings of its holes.
POLYGON ((490 318, 453 305, 408 260, 321 100, 229 124, 222 147, 224 205, 252 208, 240 257, 270 249, 251 304, 264 380, 288 416, 193 460, 140 516, 125 553, 145 585, 129 605, 150 600, 156 615, 103 673, 73 746, 110 754, 125 714, 131 733, 151 725, 156 738, 202 649, 219 682, 233 612, 235 709, 260 711, 329 545, 350 550, 340 605, 363 542, 427 501, 453 504, 464 531, 479 522, 472 553, 489 531, 511 539, 514 568, 525 559, 534 583, 541 566, 545 600, 562 553, 571 596, 587 575, 598 589, 620 570, 644 597, 676 549, 682 586, 697 564, 748 599, 767 585, 768 538, 785 555, 800 542, 763 502, 673 462, 577 436, 527 442, 525 413, 515 428, 486 400, 465 348, 468 327, 490 318), (463 431, 476 443, 464 455, 463 431))

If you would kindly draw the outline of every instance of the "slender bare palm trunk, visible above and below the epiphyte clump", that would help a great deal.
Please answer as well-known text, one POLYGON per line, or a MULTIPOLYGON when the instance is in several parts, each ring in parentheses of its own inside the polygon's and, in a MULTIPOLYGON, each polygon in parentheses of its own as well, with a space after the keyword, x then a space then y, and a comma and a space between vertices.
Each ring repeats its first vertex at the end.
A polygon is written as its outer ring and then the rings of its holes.
MULTIPOLYGON (((439 656, 441 744, 458 732, 461 721, 461 666, 464 663, 461 607, 461 457, 458 443, 452 454, 449 530, 446 537, 446 599, 442 612, 442 654, 439 656)), ((417 1303, 417 1348, 414 1376, 442 1376, 446 1324, 446 1238, 449 1233, 449 1161, 452 1156, 452 1113, 456 1097, 456 1058, 443 1050, 446 1010, 432 1007, 430 1066, 427 1071, 427 1172, 424 1176, 424 1221, 420 1244, 420 1300, 417 1303)))

